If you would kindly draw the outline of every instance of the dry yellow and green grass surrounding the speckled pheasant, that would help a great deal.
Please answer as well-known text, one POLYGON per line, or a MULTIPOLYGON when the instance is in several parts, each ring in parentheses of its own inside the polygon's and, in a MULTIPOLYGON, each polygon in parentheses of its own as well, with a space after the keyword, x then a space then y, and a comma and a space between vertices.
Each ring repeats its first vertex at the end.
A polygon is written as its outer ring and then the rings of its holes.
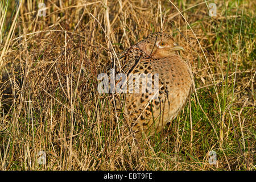
POLYGON ((255 170, 254 1, 214 1, 214 17, 203 0, 15 2, 0 2, 1 170, 255 170), (185 48, 196 90, 133 151, 97 75, 156 31, 185 48))

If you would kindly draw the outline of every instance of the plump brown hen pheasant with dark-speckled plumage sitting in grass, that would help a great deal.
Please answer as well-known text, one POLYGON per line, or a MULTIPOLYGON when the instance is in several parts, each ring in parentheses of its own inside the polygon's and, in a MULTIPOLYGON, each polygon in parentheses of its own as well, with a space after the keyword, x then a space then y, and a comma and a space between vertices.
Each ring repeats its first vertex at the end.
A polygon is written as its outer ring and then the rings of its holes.
MULTIPOLYGON (((154 93, 148 89, 146 93, 122 94, 127 121, 137 138, 142 133, 152 135, 161 131, 179 114, 191 95, 192 75, 177 53, 180 49, 183 48, 171 35, 158 32, 122 52, 119 63, 115 61, 115 73, 122 72, 127 77, 130 73, 158 73, 159 76, 159 92, 154 99, 150 99, 154 93)), ((147 86, 154 88, 155 81, 153 76, 152 85, 147 86)))

